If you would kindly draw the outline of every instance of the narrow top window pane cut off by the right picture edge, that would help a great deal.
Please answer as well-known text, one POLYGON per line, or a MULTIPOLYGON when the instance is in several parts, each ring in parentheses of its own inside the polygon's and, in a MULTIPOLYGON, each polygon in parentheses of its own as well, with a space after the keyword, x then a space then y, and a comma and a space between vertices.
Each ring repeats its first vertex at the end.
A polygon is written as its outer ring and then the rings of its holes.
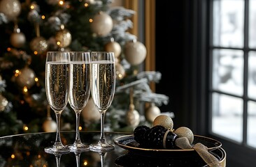
POLYGON ((249 47, 256 47, 256 1, 249 1, 249 47))

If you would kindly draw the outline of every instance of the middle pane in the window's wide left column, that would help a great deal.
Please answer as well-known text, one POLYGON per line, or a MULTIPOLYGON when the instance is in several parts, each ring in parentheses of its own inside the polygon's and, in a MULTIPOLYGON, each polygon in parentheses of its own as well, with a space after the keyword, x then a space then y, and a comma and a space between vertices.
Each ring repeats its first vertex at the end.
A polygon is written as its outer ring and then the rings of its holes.
POLYGON ((243 95, 243 51, 213 50, 213 89, 243 95))

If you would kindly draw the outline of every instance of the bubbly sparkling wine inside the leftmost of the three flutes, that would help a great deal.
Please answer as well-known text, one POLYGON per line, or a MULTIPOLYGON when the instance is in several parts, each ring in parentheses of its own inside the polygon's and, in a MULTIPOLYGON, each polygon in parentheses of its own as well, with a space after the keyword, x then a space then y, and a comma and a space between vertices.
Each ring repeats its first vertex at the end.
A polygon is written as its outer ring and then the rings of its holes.
POLYGON ((55 112, 62 112, 69 100, 69 63, 46 62, 46 95, 55 112))

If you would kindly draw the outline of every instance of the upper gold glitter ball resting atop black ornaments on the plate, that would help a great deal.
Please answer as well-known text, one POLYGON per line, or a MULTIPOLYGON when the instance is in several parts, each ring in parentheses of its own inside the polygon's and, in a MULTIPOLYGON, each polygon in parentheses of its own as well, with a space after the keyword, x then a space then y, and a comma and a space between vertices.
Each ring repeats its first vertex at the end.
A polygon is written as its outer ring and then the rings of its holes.
POLYGON ((173 129, 173 119, 166 115, 159 115, 153 121, 153 126, 162 125, 165 129, 173 129))

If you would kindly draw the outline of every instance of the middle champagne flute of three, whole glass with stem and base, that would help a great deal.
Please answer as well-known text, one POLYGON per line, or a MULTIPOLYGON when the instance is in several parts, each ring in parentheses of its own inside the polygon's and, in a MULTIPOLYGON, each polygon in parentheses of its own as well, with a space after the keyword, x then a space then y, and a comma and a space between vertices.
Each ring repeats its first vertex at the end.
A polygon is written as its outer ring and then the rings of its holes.
POLYGON ((90 97, 90 52, 71 51, 69 104, 76 113, 76 138, 69 145, 71 152, 84 152, 89 145, 80 140, 80 113, 85 108, 90 97))

